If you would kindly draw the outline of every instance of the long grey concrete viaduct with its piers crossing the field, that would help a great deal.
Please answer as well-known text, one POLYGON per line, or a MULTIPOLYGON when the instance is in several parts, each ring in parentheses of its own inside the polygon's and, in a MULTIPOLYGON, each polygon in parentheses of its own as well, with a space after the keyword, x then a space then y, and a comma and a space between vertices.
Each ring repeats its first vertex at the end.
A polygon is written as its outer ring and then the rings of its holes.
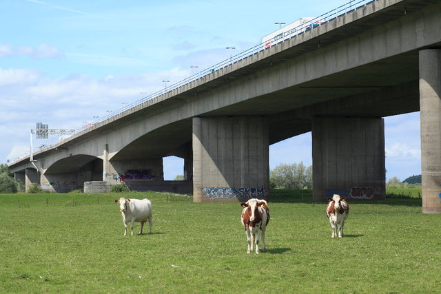
POLYGON ((423 212, 441 213, 440 96, 441 1, 376 0, 10 168, 54 191, 130 171, 132 189, 193 193, 194 202, 269 198, 269 145, 312 132, 314 200, 336 191, 381 199, 382 117, 420 111, 423 212), (171 155, 185 159, 184 181, 163 180, 171 155))

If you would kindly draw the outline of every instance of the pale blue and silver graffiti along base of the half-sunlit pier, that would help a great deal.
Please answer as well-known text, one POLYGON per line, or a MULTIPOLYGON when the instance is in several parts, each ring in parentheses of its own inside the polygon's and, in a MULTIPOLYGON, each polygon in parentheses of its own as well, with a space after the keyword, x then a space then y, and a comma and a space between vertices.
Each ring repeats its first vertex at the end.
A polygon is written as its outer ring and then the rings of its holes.
POLYGON ((210 187, 202 188, 202 193, 210 199, 265 198, 265 187, 210 187))

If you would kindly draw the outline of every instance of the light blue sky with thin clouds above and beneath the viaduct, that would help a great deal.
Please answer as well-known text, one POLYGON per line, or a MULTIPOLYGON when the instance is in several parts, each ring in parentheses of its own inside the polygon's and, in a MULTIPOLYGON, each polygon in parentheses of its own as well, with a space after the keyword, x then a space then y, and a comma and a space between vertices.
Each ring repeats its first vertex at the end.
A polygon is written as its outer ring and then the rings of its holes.
MULTIPOLYGON (((0 0, 0 163, 29 154, 36 123, 81 129, 252 48, 275 22, 348 1, 0 0)), ((420 174, 419 113, 384 121, 387 179, 420 174)), ((33 138, 34 150, 57 140, 33 138)), ((311 165, 311 133, 271 145, 269 162, 311 165)), ((183 160, 164 169, 172 180, 183 160)))

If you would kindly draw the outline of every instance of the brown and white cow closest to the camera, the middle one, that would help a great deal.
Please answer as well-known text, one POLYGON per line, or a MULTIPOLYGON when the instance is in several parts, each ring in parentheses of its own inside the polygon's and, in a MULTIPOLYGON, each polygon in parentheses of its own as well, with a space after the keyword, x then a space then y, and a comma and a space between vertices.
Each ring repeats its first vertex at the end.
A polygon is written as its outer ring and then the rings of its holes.
POLYGON ((262 251, 265 251, 265 230, 269 222, 267 202, 252 198, 245 203, 240 203, 240 206, 243 207, 240 220, 243 227, 245 227, 245 234, 247 235, 247 253, 253 250, 254 244, 256 244, 256 253, 259 253, 258 244, 260 238, 262 239, 262 251))

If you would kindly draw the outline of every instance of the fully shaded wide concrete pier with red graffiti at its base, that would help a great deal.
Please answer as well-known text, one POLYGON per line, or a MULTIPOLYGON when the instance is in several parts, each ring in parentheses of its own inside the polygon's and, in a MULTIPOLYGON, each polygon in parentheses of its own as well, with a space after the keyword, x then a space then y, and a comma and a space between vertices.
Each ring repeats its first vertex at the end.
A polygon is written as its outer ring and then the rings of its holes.
POLYGON ((324 116, 313 120, 313 198, 386 197, 382 118, 324 116))

